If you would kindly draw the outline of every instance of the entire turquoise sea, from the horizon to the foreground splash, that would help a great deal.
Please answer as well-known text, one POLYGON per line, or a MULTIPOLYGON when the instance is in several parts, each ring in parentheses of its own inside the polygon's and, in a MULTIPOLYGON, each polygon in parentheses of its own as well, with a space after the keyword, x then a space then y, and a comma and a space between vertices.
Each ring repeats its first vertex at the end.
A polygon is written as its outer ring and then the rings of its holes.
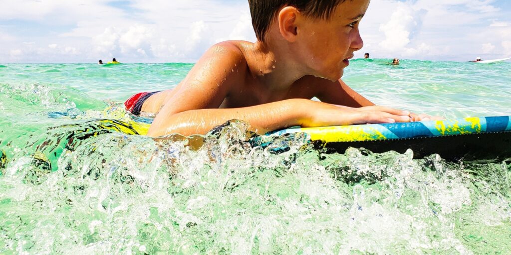
MULTIPOLYGON (((511 115, 511 63, 388 62, 355 60, 344 80, 380 105, 511 115)), ((511 161, 325 154, 299 136, 276 154, 250 146, 243 122, 151 139, 101 121, 129 121, 126 98, 192 66, 0 65, 0 253, 511 250, 511 161)))

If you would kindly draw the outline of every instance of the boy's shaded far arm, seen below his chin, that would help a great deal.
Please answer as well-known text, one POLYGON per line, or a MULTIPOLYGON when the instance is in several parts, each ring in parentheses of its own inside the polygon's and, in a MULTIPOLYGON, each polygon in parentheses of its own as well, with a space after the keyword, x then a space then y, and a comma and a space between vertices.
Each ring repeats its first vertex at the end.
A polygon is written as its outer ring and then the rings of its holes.
POLYGON ((313 84, 317 84, 320 90, 316 97, 324 103, 355 108, 375 105, 342 80, 332 82, 326 79, 314 78, 313 84))

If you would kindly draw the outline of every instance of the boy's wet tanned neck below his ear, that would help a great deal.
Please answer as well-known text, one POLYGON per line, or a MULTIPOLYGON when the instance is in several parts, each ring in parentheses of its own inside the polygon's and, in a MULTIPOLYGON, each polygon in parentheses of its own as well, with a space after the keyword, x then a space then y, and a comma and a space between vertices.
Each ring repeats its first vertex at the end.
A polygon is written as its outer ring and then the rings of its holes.
POLYGON ((253 44, 250 71, 270 91, 288 90, 293 83, 307 75, 292 56, 287 44, 257 41, 253 44))

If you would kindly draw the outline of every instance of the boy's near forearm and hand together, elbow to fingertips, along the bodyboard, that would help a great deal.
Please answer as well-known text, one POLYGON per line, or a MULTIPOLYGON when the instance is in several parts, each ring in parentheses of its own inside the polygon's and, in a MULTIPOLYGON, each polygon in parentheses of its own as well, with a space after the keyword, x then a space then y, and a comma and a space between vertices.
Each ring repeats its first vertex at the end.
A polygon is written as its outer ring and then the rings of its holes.
MULTIPOLYGON (((161 113, 160 113, 161 114, 161 113)), ((380 106, 339 107, 309 99, 287 99, 274 103, 233 109, 201 109, 180 112, 162 118, 157 129, 151 126, 149 136, 179 133, 185 136, 205 134, 231 119, 250 123, 258 134, 289 126, 331 126, 365 123, 408 122, 410 113, 380 106)))

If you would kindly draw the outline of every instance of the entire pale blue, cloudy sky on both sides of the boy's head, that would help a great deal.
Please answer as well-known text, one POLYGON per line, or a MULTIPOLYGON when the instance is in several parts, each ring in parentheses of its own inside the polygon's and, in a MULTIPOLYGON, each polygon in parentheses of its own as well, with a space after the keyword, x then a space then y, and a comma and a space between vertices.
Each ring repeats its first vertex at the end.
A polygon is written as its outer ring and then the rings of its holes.
MULTIPOLYGON (((244 0, 0 0, 0 63, 195 62, 224 40, 255 41, 244 0)), ((372 0, 371 58, 511 57, 509 0, 372 0)))

